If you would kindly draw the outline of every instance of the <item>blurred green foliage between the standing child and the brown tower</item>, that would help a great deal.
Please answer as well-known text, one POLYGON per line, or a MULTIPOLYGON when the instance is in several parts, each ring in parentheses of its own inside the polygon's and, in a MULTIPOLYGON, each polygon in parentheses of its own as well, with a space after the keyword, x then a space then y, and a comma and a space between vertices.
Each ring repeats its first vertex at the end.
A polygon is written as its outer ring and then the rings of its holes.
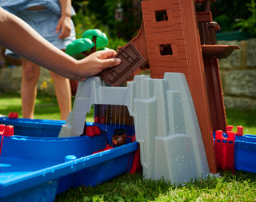
POLYGON ((133 0, 76 0, 72 5, 77 12, 73 18, 77 38, 86 30, 99 29, 109 38, 108 48, 114 50, 134 38, 142 22, 141 10, 139 14, 134 14, 133 0), (122 9, 121 21, 115 19, 118 5, 122 9))

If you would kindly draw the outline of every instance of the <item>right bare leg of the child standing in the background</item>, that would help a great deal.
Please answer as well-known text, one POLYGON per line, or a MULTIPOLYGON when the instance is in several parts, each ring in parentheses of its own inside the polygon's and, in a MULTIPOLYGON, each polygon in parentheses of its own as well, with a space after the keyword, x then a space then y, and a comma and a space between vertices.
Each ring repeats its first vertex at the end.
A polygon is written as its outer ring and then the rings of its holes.
POLYGON ((70 81, 57 73, 50 72, 50 77, 54 81, 55 94, 58 100, 58 107, 61 113, 61 119, 66 120, 71 111, 71 89, 70 81))

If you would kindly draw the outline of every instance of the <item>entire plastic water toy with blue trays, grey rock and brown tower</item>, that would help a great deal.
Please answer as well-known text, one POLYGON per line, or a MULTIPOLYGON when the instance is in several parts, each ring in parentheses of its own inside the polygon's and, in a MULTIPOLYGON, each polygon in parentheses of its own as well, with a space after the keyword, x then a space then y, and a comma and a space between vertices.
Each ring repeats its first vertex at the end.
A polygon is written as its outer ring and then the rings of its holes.
MULTIPOLYGON (((211 2, 142 1, 141 29, 118 49, 121 64, 74 83, 66 121, 0 117, 0 201, 54 201, 139 169, 172 184, 256 172, 256 137, 226 124, 218 59, 239 47, 217 45, 211 2), (203 12, 194 12, 197 3, 203 12), (150 76, 138 75, 143 68, 150 76)), ((87 30, 66 53, 86 57, 107 43, 87 30)))

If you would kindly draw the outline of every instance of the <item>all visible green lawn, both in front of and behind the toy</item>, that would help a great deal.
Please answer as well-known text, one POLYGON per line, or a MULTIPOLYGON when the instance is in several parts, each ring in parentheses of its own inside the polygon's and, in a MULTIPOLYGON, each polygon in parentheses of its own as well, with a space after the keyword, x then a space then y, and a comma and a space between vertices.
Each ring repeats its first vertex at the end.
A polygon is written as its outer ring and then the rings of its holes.
MULTIPOLYGON (((0 95, 0 114, 18 112, 22 117, 18 94, 0 95)), ((226 110, 228 125, 242 125, 245 133, 256 134, 256 110, 226 110)), ((35 118, 59 119, 54 96, 38 95, 35 118)), ((89 121, 92 121, 90 113, 89 121)), ((71 188, 56 196, 55 201, 256 201, 256 174, 221 172, 219 177, 195 179, 183 185, 164 180, 145 180, 142 173, 124 174, 91 187, 71 188)))

